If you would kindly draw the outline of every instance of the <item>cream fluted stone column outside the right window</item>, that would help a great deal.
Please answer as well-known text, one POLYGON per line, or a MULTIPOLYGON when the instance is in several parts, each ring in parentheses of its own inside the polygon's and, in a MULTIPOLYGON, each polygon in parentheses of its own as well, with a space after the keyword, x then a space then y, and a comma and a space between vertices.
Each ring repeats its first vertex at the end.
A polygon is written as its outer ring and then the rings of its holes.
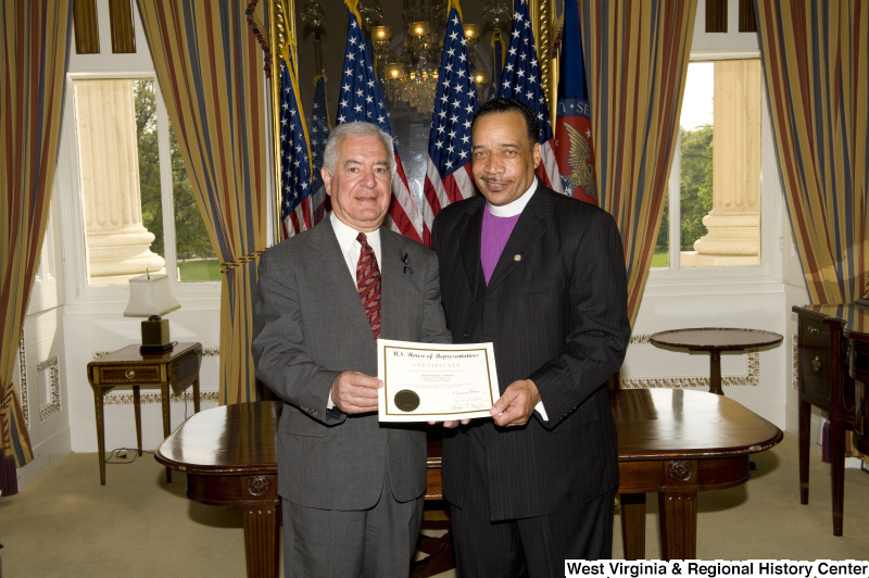
POLYGON ((760 62, 715 63, 713 210, 682 266, 760 263, 760 62))

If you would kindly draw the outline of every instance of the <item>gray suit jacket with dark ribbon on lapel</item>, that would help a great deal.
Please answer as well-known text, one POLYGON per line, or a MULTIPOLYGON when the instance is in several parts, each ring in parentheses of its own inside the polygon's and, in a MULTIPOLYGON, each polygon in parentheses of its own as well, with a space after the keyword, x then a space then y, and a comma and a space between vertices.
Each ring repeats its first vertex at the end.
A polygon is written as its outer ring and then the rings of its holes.
MULTIPOLYGON (((434 253, 382 227, 380 240, 381 337, 450 342, 434 253)), ((376 342, 330 219, 268 249, 259 274, 256 377, 287 402, 278 431, 281 497, 307 507, 368 508, 387 467, 398 501, 421 495, 424 429, 327 410, 338 374, 377 375, 376 342)))

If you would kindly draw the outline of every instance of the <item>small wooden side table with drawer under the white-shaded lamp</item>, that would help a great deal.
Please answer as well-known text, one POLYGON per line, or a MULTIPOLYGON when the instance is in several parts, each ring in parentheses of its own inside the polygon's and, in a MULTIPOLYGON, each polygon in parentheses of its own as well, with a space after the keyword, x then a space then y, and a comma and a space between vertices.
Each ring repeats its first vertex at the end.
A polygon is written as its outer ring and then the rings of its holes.
MULTIPOLYGON (((139 345, 133 344, 110 353, 88 364, 88 380, 93 388, 93 407, 97 412, 97 444, 100 460, 100 483, 105 486, 105 425, 103 423, 103 394, 119 386, 133 387, 133 407, 136 414, 136 442, 142 454, 141 386, 160 386, 163 405, 163 438, 169 437, 169 385, 177 395, 193 386, 193 411, 199 413, 199 367, 202 364, 201 343, 177 343, 172 351, 159 355, 142 355, 139 345)), ((172 481, 172 469, 166 468, 166 481, 172 481)))

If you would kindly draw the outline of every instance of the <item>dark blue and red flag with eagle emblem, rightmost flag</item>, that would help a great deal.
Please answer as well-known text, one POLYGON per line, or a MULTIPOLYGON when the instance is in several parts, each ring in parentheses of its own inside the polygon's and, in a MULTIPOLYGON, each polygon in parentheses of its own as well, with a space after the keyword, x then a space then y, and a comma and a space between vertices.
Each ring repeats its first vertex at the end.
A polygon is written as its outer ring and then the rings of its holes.
POLYGON ((599 204, 591 138, 591 105, 585 87, 585 64, 579 28, 579 7, 564 7, 564 37, 558 73, 558 106, 555 117, 555 152, 566 194, 599 204))

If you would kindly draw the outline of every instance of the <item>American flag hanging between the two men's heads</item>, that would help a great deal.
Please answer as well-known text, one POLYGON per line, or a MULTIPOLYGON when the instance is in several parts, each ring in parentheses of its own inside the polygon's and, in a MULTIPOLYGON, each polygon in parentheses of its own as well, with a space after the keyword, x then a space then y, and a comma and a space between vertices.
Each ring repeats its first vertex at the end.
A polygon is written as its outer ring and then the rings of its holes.
MULTIPOLYGON (((470 123, 476 113, 477 88, 467 40, 458 11, 452 5, 428 137, 426 202, 423 208, 423 219, 428 230, 431 230, 434 215, 441 209, 476 193, 470 172, 470 123)), ((431 239, 426 238, 425 242, 430 244, 431 239)))

